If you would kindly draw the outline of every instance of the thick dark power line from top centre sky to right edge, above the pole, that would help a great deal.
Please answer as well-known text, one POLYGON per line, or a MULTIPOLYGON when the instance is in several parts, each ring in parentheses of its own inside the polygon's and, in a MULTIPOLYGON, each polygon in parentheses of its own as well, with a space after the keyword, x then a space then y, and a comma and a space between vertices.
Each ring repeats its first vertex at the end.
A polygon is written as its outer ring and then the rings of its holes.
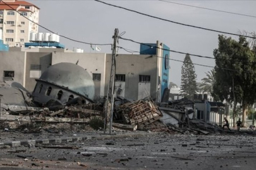
POLYGON ((228 35, 235 35, 235 36, 247 37, 247 38, 253 38, 253 39, 256 38, 256 37, 250 37, 250 36, 247 36, 247 35, 239 35, 239 34, 236 34, 236 33, 229 33, 229 32, 226 32, 226 31, 218 31, 218 30, 213 30, 213 29, 204 28, 204 27, 200 27, 200 26, 188 25, 188 24, 185 24, 185 23, 179 23, 179 22, 176 22, 176 21, 171 21, 171 20, 167 20, 167 19, 164 19, 164 18, 159 18, 157 16, 152 16, 150 14, 141 13, 141 12, 138 12, 138 11, 135 11, 135 10, 132 10, 132 9, 128 9, 128 8, 124 8, 124 7, 121 7, 121 6, 116 6, 114 4, 105 3, 105 2, 102 2, 102 1, 99 1, 99 0, 94 0, 94 1, 96 1, 98 3, 106 4, 108 6, 113 6, 115 8, 125 9, 126 11, 131 11, 133 13, 142 14, 144 16, 149 16, 150 18, 155 18, 155 19, 162 20, 162 21, 168 21, 170 23, 174 23, 174 24, 178 24, 178 25, 190 26, 190 27, 193 27, 193 28, 198 28, 198 29, 207 30, 207 31, 214 31, 214 32, 217 32, 217 33, 224 33, 224 34, 228 34, 228 35))

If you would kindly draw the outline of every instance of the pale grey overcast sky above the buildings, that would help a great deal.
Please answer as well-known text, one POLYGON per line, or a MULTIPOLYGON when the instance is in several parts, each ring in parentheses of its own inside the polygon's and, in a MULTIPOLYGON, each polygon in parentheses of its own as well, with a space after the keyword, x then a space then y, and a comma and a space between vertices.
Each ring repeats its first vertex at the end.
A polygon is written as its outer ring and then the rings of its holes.
MULTIPOLYGON (((40 0, 28 1, 40 8, 40 25, 58 32, 61 35, 89 43, 113 43, 114 28, 119 33, 125 31, 124 38, 138 42, 155 43, 157 40, 168 45, 171 50, 190 54, 213 57, 212 52, 217 48, 218 33, 187 26, 176 25, 166 21, 149 18, 140 14, 114 8, 95 1, 61 1, 40 0)), ((256 16, 256 1, 174 1, 176 3, 190 4, 205 8, 219 9, 233 13, 243 13, 256 16)), ((106 1, 106 3, 123 6, 159 18, 177 21, 188 25, 201 26, 219 31, 238 33, 243 31, 256 31, 256 18, 239 16, 235 14, 219 13, 206 9, 192 8, 162 1, 106 1)), ((40 32, 47 32, 40 28, 40 32)), ((238 37, 226 35, 238 39, 238 37)), ((90 45, 71 42, 61 38, 66 48, 83 48, 85 52, 93 52, 90 45)), ((119 46, 131 50, 139 50, 136 43, 119 40, 119 46)), ((100 46, 101 52, 111 53, 110 46, 100 46)), ((119 50, 120 54, 126 54, 119 50)), ((171 52, 171 59, 182 60, 185 55, 171 52)), ((212 59, 202 59, 191 56, 192 62, 214 66, 212 59)), ((182 62, 170 60, 170 81, 181 83, 182 62)), ((197 82, 205 77, 205 72, 212 68, 195 65, 197 82)))

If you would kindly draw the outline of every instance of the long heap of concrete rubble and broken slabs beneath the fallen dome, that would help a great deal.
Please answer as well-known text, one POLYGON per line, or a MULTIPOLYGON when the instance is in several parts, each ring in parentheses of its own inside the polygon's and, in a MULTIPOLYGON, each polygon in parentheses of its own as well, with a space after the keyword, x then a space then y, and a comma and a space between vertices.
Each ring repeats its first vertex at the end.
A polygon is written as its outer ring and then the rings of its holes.
MULTIPOLYGON (((23 133, 40 133, 42 127, 51 123, 67 123, 71 130, 83 125, 90 125, 94 119, 95 129, 103 130, 107 125, 111 103, 106 98, 88 103, 82 95, 70 98, 68 101, 47 99, 46 103, 34 101, 28 91, 16 82, 8 82, 0 87, 0 128, 6 132, 17 128, 23 133), (108 101, 108 103, 107 103, 108 101)), ((61 94, 59 94, 61 95, 61 94)), ((74 97, 74 96, 73 96, 74 97)), ((195 119, 195 103, 186 98, 155 103, 152 99, 145 98, 133 101, 121 96, 114 100, 113 129, 118 130, 149 130, 150 132, 183 133, 185 135, 209 133, 222 133, 217 125, 205 123, 195 119)), ((44 129, 48 133, 59 133, 52 128, 44 129)), ((235 133, 235 132, 227 132, 235 133)), ((251 132, 253 133, 253 132, 251 132)), ((74 134, 75 135, 75 134, 74 134)))

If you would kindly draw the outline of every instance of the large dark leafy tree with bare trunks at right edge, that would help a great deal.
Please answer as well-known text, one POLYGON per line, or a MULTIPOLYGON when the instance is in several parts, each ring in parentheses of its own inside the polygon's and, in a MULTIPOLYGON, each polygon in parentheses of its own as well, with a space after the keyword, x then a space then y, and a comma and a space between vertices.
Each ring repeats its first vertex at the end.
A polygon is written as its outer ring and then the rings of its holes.
POLYGON ((214 50, 216 59, 216 83, 214 96, 222 101, 233 102, 233 121, 235 122, 236 105, 241 104, 245 123, 246 108, 256 99, 255 54, 245 38, 238 41, 219 35, 219 47, 214 50))

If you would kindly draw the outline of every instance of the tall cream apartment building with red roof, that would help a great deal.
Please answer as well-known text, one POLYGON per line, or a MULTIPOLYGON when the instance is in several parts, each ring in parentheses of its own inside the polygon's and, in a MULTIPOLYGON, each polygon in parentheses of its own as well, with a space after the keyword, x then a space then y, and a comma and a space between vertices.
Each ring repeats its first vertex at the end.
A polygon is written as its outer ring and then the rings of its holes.
POLYGON ((39 23, 39 8, 34 4, 14 0, 0 2, 0 38, 9 47, 23 47, 29 42, 30 33, 39 30, 35 23, 39 23))

